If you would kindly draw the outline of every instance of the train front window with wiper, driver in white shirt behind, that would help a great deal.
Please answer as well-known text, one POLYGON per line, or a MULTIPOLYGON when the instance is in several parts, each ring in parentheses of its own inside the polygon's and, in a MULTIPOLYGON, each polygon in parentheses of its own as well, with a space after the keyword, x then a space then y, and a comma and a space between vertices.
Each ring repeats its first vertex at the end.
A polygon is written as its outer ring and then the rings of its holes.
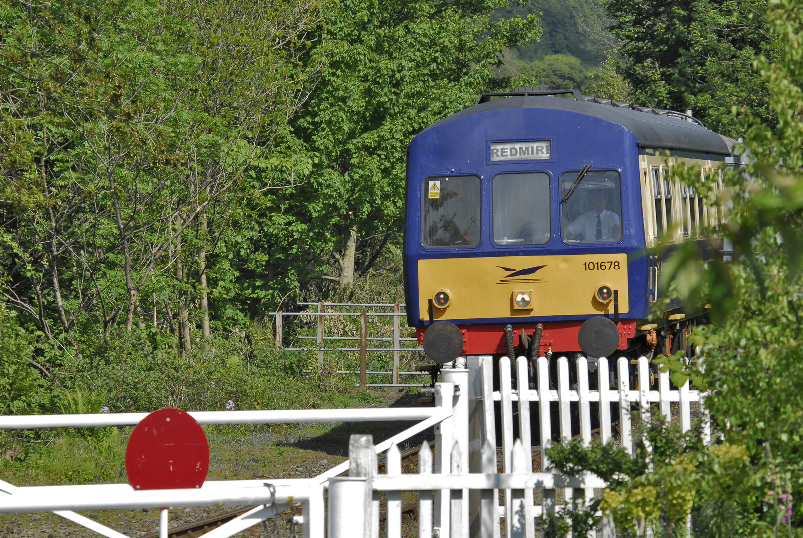
POLYGON ((569 243, 618 241, 622 238, 622 178, 615 170, 595 170, 577 183, 579 174, 577 170, 560 176, 561 198, 569 196, 560 209, 563 237, 569 243))

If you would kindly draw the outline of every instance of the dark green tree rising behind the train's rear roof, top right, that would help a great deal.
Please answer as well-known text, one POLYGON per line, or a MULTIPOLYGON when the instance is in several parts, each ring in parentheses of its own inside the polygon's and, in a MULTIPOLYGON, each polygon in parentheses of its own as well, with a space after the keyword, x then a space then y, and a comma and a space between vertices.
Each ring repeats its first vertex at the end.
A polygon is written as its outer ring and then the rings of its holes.
POLYGON ((619 40, 617 66, 644 106, 692 109, 728 136, 744 132, 732 108, 771 120, 768 89, 753 67, 772 57, 774 40, 760 16, 765 0, 605 0, 619 40), (758 16, 754 16, 758 14, 758 16))

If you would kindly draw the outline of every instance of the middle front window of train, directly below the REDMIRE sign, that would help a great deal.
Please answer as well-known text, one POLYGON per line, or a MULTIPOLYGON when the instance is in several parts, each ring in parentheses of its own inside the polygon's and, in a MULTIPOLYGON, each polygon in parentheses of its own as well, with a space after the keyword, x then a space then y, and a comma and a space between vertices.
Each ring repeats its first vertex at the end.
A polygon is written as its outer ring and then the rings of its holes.
POLYGON ((549 176, 500 173, 494 177, 494 242, 540 245, 549 241, 549 176))

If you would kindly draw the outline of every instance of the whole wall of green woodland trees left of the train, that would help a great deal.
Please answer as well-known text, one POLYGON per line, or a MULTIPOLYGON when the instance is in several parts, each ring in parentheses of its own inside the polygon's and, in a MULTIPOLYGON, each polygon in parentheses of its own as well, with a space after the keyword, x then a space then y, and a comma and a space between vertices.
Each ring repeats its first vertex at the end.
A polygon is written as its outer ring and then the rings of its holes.
POLYGON ((43 375, 352 285, 398 243, 410 138, 538 36, 501 6, 0 2, 0 289, 43 375))

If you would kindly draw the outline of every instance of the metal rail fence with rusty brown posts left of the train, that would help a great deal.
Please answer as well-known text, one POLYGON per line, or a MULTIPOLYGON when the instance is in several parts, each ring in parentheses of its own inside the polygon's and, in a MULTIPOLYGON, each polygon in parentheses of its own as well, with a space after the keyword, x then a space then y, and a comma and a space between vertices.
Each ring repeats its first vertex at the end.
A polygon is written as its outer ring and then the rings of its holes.
MULTIPOLYGON (((276 348, 277 349, 284 349, 286 351, 311 351, 316 350, 318 356, 318 369, 319 371, 323 371, 324 369, 324 353, 326 351, 340 351, 340 352, 360 352, 360 386, 365 388, 368 386, 376 386, 376 387, 403 387, 403 386, 422 386, 418 384, 402 384, 399 381, 400 376, 404 375, 417 375, 418 372, 401 372, 399 370, 399 361, 401 357, 401 353, 403 352, 410 352, 410 353, 422 353, 424 350, 423 348, 405 348, 402 347, 402 342, 417 342, 417 338, 410 338, 410 337, 402 337, 401 336, 401 318, 402 316, 406 316, 406 312, 402 312, 402 308, 405 308, 405 304, 396 303, 396 304, 381 304, 381 303, 326 303, 326 302, 319 302, 319 303, 299 303, 298 306, 300 307, 311 307, 314 306, 317 308, 316 312, 268 312, 269 316, 275 316, 275 324, 276 324, 276 348), (327 307, 337 307, 337 308, 393 308, 393 312, 368 312, 362 310, 361 312, 325 312, 325 308, 327 307), (296 336, 297 340, 315 340, 316 347, 314 348, 300 348, 300 347, 283 347, 283 328, 284 328, 284 318, 286 316, 316 316, 317 323, 316 323, 316 336, 296 336), (338 316, 360 316, 360 336, 324 336, 324 320, 327 317, 338 317, 338 316), (393 336, 368 336, 368 318, 369 317, 393 317, 393 336), (325 348, 324 342, 325 341, 332 341, 332 340, 340 340, 340 341, 359 341, 360 347, 359 348, 346 348, 346 347, 335 347, 335 348, 325 348), (369 342, 392 342, 393 347, 391 348, 369 348, 369 342), (392 381, 390 383, 370 383, 368 382, 368 353, 393 353, 393 369, 389 372, 392 381)), ((330 373, 346 373, 345 371, 341 370, 331 370, 330 373)))

